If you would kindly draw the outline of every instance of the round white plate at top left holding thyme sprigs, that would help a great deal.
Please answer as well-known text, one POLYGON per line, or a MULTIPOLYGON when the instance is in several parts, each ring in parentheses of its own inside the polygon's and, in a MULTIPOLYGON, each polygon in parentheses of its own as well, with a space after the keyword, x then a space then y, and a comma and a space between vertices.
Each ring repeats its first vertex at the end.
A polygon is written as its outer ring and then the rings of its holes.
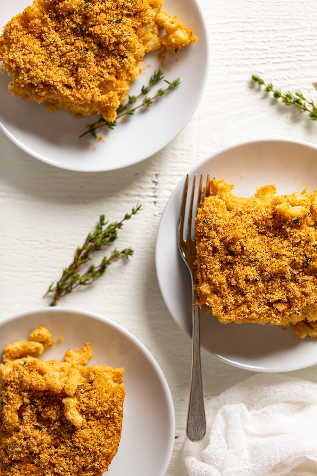
MULTIPOLYGON (((31 0, 0 0, 0 29, 30 3, 31 0)), ((114 130, 100 129, 98 136, 103 136, 103 142, 96 141, 90 134, 78 139, 86 124, 94 122, 98 116, 76 119, 62 110, 52 114, 45 104, 38 105, 29 99, 23 102, 9 96, 10 79, 5 71, 0 74, 0 128, 3 132, 37 159, 62 169, 86 172, 120 169, 163 149, 196 110, 206 84, 209 63, 207 27, 199 3, 196 0, 164 0, 163 8, 172 15, 177 14, 179 20, 199 37, 194 44, 173 53, 173 57, 169 53, 166 55, 165 79, 173 81, 180 77, 180 86, 158 98, 151 108, 139 110, 123 122, 119 119, 114 130)), ((142 85, 148 85, 154 69, 159 66, 157 52, 147 54, 144 74, 135 79, 130 94, 138 94, 142 85), (147 64, 151 67, 146 67, 147 64)), ((163 81, 158 83, 153 91, 164 84, 163 81)))

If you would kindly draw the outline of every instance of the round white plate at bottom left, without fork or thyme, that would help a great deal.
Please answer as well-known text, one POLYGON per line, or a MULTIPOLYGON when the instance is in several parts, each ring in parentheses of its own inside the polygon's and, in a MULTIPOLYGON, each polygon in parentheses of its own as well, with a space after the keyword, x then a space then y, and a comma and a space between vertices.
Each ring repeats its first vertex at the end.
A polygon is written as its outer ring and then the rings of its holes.
POLYGON ((44 352, 45 360, 62 360, 68 348, 82 347, 88 341, 94 352, 91 364, 125 367, 122 436, 104 475, 163 476, 173 451, 175 417, 170 389, 150 352, 114 322, 61 307, 29 311, 1 322, 0 349, 28 338, 40 325, 48 327, 55 340, 64 337, 44 352))

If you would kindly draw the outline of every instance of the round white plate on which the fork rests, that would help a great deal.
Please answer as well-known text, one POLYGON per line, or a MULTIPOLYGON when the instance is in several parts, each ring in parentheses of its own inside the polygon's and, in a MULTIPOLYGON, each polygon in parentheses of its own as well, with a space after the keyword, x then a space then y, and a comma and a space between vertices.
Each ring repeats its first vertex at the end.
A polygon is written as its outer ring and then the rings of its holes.
MULTIPOLYGON (((278 194, 317 188, 317 148, 295 140, 259 140, 222 150, 190 172, 233 183, 233 193, 254 195, 256 187, 275 183, 278 194)), ((191 183, 191 181, 190 181, 191 183)), ((184 179, 163 212, 156 239, 156 273, 165 304, 175 322, 192 335, 191 282, 177 249, 177 224, 184 179)), ((317 364, 317 339, 303 339, 280 326, 221 324, 201 311, 202 347, 236 367, 258 372, 287 372, 317 364)))

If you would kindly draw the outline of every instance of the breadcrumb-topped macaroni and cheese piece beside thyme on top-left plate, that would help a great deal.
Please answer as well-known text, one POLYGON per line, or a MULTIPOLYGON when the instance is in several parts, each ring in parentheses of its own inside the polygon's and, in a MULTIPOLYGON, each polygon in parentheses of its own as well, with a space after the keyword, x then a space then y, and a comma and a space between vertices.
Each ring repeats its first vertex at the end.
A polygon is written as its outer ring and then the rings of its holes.
POLYGON ((147 51, 197 40, 163 0, 34 0, 0 37, 9 91, 56 112, 116 118, 147 51), (161 29, 166 34, 160 38, 161 29))

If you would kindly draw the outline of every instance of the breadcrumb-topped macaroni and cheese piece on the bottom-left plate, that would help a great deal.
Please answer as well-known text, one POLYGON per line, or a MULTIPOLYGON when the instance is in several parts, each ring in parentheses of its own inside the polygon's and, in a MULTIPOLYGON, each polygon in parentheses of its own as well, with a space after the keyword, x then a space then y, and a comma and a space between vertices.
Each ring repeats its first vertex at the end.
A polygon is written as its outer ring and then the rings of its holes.
POLYGON ((92 356, 86 342, 68 350, 64 362, 27 355, 50 337, 39 327, 32 340, 4 348, 0 476, 101 476, 120 442, 124 369, 86 367, 92 356))

